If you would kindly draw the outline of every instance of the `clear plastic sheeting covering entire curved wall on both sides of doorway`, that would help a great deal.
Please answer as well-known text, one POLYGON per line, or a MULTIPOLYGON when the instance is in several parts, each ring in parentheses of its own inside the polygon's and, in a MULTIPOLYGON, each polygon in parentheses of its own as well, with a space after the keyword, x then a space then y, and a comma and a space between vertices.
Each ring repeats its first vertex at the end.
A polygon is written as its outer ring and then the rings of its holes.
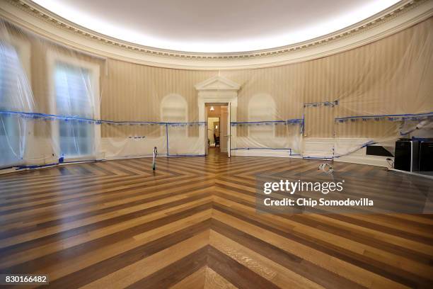
POLYGON ((201 156, 194 85, 241 84, 231 149, 344 157, 431 137, 433 19, 318 60, 233 71, 147 67, 88 55, 0 23, 0 167, 160 155, 201 156), (417 129, 418 128, 418 129, 417 129), (311 153, 311 140, 329 142, 311 153))

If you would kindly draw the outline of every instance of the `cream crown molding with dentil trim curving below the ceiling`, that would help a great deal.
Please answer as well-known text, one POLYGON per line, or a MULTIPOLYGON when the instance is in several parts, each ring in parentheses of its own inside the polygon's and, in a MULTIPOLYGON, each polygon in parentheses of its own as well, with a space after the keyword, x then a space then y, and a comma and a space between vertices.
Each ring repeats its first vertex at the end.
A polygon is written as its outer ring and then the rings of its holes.
POLYGON ((433 16, 433 1, 403 0, 365 21, 295 45, 236 53, 190 53, 125 42, 71 23, 29 0, 1 0, 0 17, 76 50, 176 69, 273 67, 333 55, 385 38, 433 16))

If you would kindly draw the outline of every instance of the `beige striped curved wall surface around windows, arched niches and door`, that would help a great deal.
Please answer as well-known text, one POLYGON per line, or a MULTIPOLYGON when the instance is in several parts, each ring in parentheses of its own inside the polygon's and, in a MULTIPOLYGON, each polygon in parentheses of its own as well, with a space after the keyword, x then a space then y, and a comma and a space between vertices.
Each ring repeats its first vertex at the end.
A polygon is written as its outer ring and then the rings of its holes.
MULTIPOLYGON (((187 102, 187 121, 195 122, 199 118, 195 84, 217 75, 241 85, 237 121, 249 120, 251 98, 267 95, 274 99, 277 108, 265 112, 267 120, 305 118, 304 142, 333 137, 374 139, 390 136, 391 132, 395 137, 396 123, 354 122, 336 128, 335 118, 433 111, 433 18, 381 40, 315 60, 224 70, 147 66, 80 52, 7 22, 2 29, 6 33, 1 38, 18 43, 21 55, 28 55, 29 64, 24 60, 23 64, 28 67, 31 91, 40 113, 50 113, 52 74, 48 62, 53 53, 99 67, 98 97, 100 118, 104 120, 160 121, 161 100, 177 94, 187 102), (321 105, 334 101, 338 101, 337 106, 321 105)), ((50 133, 35 127, 36 136, 49 137, 50 133)), ((275 137, 287 137, 288 133, 276 129, 275 137)), ((158 137, 163 132, 136 126, 101 128, 102 139, 149 134, 158 137)), ((198 134, 197 129, 187 132, 189 137, 198 134)), ((248 128, 238 128, 236 136, 248 137, 248 128)), ((121 154, 130 155, 127 149, 121 150, 121 154)))

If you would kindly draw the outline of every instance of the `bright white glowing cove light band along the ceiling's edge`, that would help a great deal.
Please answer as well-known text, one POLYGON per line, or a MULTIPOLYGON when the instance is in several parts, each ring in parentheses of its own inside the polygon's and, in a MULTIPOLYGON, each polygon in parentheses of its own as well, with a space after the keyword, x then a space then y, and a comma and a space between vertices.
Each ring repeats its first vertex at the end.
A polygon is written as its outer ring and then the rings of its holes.
POLYGON ((316 23, 313 26, 308 26, 302 30, 288 30, 284 33, 279 33, 278 35, 270 34, 267 37, 227 42, 210 40, 205 42, 200 40, 183 42, 180 40, 173 41, 166 38, 158 38, 154 35, 146 35, 145 33, 122 28, 117 26, 114 21, 111 22, 98 19, 84 11, 78 11, 74 9, 74 7, 63 4, 62 1, 33 1, 69 21, 79 24, 80 26, 108 35, 112 38, 137 43, 139 45, 183 52, 246 52, 291 45, 333 33, 379 13, 389 6, 396 4, 399 0, 369 1, 364 6, 361 6, 350 13, 345 13, 345 15, 335 17, 330 21, 316 23))

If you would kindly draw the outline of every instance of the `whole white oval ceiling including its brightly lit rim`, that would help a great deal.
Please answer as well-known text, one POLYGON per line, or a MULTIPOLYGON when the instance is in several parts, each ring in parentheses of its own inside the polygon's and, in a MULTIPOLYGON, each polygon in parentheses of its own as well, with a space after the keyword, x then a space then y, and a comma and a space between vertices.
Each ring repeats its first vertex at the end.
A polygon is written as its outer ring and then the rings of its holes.
POLYGON ((245 52, 294 44, 373 16, 398 0, 33 0, 80 26, 140 45, 245 52))

